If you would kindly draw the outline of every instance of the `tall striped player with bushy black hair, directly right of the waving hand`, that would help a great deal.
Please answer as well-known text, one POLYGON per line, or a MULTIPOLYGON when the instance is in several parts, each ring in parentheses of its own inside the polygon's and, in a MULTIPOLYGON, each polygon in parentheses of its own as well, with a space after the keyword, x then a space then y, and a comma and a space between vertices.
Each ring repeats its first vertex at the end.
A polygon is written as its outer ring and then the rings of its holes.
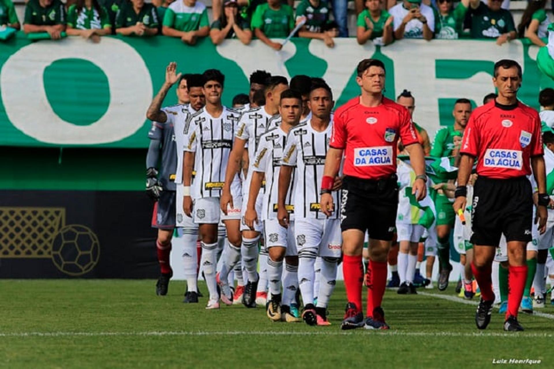
MULTIPOLYGON (((199 224, 202 245, 202 267, 209 290, 206 309, 219 308, 216 283, 217 225, 222 219, 227 227, 230 242, 240 243, 240 234, 233 232, 240 222, 240 208, 228 209, 220 214, 219 196, 225 182, 225 167, 238 129, 238 112, 221 104, 225 77, 216 69, 204 71, 204 95, 206 106, 189 117, 185 132, 188 143, 184 147, 183 160, 183 210, 199 224), (192 169, 196 177, 192 182, 192 169), (192 184, 192 187, 191 187, 192 184), (194 212, 192 199, 194 198, 194 212), (238 238, 238 241, 237 241, 238 238)), ((237 175, 231 180, 231 188, 240 188, 237 175)), ((240 199, 238 199, 237 204, 240 199)))

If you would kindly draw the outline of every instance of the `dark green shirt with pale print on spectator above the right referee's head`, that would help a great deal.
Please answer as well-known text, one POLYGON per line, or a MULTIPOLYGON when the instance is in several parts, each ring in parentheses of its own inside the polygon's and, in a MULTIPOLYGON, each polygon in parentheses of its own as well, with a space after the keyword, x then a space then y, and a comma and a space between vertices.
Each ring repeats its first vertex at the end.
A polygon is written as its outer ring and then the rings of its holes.
POLYGON ((500 9, 490 10, 484 3, 471 10, 471 38, 497 38, 504 33, 515 31, 512 14, 500 9))

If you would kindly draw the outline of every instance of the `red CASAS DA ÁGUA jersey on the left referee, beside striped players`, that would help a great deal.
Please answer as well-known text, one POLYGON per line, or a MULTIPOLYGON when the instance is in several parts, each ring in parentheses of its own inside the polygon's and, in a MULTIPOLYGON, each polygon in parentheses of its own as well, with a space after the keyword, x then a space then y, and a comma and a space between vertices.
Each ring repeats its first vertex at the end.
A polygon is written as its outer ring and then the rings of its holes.
POLYGON ((408 110, 387 98, 363 106, 358 96, 335 111, 329 146, 345 150, 345 175, 378 180, 396 173, 398 139, 404 146, 418 143, 408 110))

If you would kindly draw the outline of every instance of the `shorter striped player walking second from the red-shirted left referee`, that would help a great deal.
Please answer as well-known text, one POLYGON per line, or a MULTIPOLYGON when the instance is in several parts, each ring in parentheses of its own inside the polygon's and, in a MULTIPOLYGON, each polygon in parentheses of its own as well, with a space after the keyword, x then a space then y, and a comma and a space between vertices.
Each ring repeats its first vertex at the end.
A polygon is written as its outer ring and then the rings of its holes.
POLYGON ((286 257, 286 262, 290 265, 297 265, 298 262, 293 221, 296 173, 293 171, 291 175, 293 183, 289 191, 283 194, 282 203, 278 201, 278 187, 281 159, 286 156, 284 151, 286 136, 299 123, 301 105, 302 98, 296 91, 285 90, 281 93, 279 105, 281 124, 278 128, 261 135, 255 160, 250 164, 252 181, 250 182, 250 193, 244 222, 250 228, 254 228, 256 223, 264 222, 265 247, 269 252, 268 279, 271 295, 268 301, 267 314, 269 319, 273 321, 299 321, 290 313, 290 305, 295 299, 297 289, 297 276, 293 285, 284 286, 281 298, 283 259, 286 257), (260 214, 256 211, 256 198, 264 178, 265 193, 260 214))

